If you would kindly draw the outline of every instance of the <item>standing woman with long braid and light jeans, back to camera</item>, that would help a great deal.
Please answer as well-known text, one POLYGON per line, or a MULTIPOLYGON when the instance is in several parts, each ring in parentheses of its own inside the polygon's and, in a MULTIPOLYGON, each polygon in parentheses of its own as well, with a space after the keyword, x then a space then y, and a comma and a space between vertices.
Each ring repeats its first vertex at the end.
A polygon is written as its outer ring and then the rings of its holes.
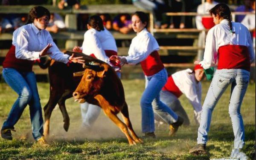
POLYGON ((240 109, 249 81, 250 63, 255 58, 252 39, 244 25, 231 22, 230 9, 226 4, 218 4, 209 12, 216 25, 207 34, 204 60, 195 61, 195 64, 199 62, 207 69, 218 61, 218 68, 204 101, 198 128, 198 145, 190 149, 189 153, 205 153, 212 111, 231 84, 229 113, 235 136, 231 158, 243 159, 246 155, 240 151, 244 146, 244 124, 240 109))

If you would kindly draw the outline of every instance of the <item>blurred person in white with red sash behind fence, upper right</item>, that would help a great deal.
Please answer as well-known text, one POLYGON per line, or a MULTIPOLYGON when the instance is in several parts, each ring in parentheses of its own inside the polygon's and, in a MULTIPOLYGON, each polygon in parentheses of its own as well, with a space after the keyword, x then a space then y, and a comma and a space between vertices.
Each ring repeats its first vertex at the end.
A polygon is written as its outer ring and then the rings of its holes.
MULTIPOLYGON (((201 16, 198 15, 195 17, 195 24, 196 28, 203 30, 203 29, 211 29, 215 24, 213 23, 213 17, 211 15, 207 16, 209 14, 209 10, 212 9, 215 5, 218 3, 215 2, 214 0, 206 0, 204 4, 201 4, 197 8, 197 13, 201 15, 206 15, 206 16, 201 16)), ((198 35, 198 47, 203 47, 204 46, 204 38, 202 35, 202 32, 199 33, 198 35)), ((203 58, 203 51, 202 49, 198 49, 198 58, 201 59, 203 58)))

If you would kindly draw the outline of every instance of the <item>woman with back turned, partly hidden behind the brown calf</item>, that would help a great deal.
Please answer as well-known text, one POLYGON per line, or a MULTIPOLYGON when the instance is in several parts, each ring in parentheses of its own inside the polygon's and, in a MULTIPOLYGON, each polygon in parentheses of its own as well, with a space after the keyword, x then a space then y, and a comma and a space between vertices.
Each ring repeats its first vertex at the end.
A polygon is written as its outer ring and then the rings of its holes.
MULTIPOLYGON (((86 55, 98 58, 115 68, 116 74, 121 77, 119 64, 110 61, 111 55, 117 55, 116 41, 113 35, 104 28, 103 21, 98 15, 89 18, 87 24, 88 30, 84 33, 84 41, 82 47, 74 47, 73 51, 83 52, 86 55)), ((96 121, 101 108, 87 102, 81 104, 82 126, 90 128, 96 121)))

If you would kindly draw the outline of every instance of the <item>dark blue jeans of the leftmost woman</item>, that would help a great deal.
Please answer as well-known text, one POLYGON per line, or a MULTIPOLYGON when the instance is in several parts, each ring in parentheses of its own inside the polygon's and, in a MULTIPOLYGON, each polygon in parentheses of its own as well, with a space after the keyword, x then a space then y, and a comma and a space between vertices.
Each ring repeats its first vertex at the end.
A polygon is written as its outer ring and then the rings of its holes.
POLYGON ((29 105, 32 134, 35 140, 43 135, 43 117, 40 98, 36 85, 34 72, 19 72, 13 68, 3 69, 3 78, 6 83, 19 95, 12 106, 8 118, 3 123, 2 129, 14 129, 25 107, 29 105))

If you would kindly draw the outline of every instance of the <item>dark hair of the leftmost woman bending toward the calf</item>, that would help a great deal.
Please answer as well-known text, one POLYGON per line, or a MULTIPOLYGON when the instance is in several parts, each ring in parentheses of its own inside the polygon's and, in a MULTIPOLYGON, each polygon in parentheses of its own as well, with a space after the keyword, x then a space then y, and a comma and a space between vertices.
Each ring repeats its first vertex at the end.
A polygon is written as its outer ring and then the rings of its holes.
POLYGON ((29 11, 29 17, 28 17, 28 22, 29 23, 33 23, 35 18, 40 18, 43 17, 44 15, 48 16, 48 18, 50 19, 50 12, 48 9, 42 7, 42 6, 35 6, 33 7, 30 11, 29 11))

